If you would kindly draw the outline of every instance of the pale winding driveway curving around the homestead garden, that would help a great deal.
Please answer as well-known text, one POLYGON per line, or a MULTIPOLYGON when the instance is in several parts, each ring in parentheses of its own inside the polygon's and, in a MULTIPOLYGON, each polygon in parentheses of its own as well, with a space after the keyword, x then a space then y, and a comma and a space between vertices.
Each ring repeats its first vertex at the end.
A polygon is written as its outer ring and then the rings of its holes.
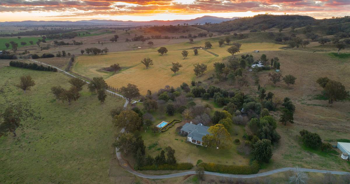
MULTIPOLYGON (((55 67, 55 66, 52 66, 52 65, 49 65, 49 64, 46 64, 46 63, 42 63, 42 62, 39 62, 39 61, 36 61, 36 60, 32 60, 32 59, 28 59, 28 60, 31 60, 31 61, 34 61, 34 62, 37 62, 37 63, 40 63, 40 64, 44 64, 44 65, 56 68, 57 70, 62 71, 65 74, 67 74, 67 75, 69 75, 71 77, 76 77, 76 76, 74 76, 74 75, 72 75, 72 74, 70 74, 70 73, 68 73, 68 72, 66 72, 66 71, 64 71, 64 70, 62 70, 62 69, 60 69, 58 67, 55 67)), ((83 80, 83 81, 85 81, 85 80, 83 80)), ((85 81, 85 82, 89 84, 89 82, 87 82, 87 81, 85 81)), ((117 95, 117 96, 120 96, 120 97, 124 98, 125 101, 126 101, 125 104, 124 104, 124 107, 126 107, 128 105, 128 101, 126 100, 126 98, 123 95, 114 93, 113 91, 110 91, 110 90, 106 90, 106 91, 108 93, 112 93, 114 95, 117 95)), ((125 131, 124 129, 120 130, 121 133, 123 133, 124 131, 125 131)), ((130 168, 128 163, 121 157, 120 152, 118 151, 118 148, 116 148, 116 155, 117 155, 118 161, 119 161, 119 163, 120 163, 122 168, 124 168, 128 172, 130 172, 130 173, 132 173, 132 174, 134 174, 136 176, 142 177, 142 178, 162 179, 162 178, 173 178, 173 177, 179 177, 179 176, 186 176, 186 175, 194 175, 194 174, 196 174, 195 171, 186 171, 186 172, 174 173, 174 174, 169 174, 169 175, 146 175, 146 174, 142 174, 142 173, 136 172, 135 170, 130 168)), ((231 178, 255 178, 255 177, 262 177, 262 176, 272 175, 274 173, 285 172, 285 171, 295 171, 295 170, 296 170, 296 168, 281 168, 281 169, 275 169, 275 170, 272 170, 272 171, 266 171, 266 172, 261 172, 261 173, 257 173, 257 174, 252 174, 252 175, 231 175, 231 174, 223 174, 223 173, 208 172, 208 171, 204 171, 204 173, 207 174, 207 175, 214 175, 214 176, 221 176, 221 177, 231 177, 231 178)), ((334 174, 334 175, 346 175, 346 174, 350 175, 350 172, 344 172, 344 171, 327 171, 327 170, 305 169, 305 168, 299 168, 299 170, 300 171, 304 171, 304 172, 331 173, 331 174, 334 174)))

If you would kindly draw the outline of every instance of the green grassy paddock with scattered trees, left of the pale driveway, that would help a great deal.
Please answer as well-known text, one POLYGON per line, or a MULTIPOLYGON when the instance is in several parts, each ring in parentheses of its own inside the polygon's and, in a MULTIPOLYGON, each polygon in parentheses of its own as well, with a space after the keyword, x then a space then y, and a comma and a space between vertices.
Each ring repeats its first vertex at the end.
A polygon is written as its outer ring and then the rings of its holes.
POLYGON ((125 101, 108 95, 100 103, 86 87, 71 105, 56 101, 50 88, 70 86, 58 72, 2 67, 0 79, 0 112, 12 104, 24 112, 18 136, 0 137, 0 183, 111 183, 124 171, 112 159, 117 130, 109 111, 125 101), (21 75, 35 81, 26 94, 14 86, 21 75))

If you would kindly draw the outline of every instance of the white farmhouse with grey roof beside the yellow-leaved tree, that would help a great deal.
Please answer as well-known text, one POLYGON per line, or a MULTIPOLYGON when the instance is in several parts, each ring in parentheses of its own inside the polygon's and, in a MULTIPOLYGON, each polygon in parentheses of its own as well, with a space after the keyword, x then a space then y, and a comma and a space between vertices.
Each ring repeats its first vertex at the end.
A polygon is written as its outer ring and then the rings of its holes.
POLYGON ((203 145, 202 137, 210 135, 208 132, 209 127, 202 123, 193 124, 192 122, 186 123, 181 128, 181 134, 187 136, 187 141, 197 145, 203 145))

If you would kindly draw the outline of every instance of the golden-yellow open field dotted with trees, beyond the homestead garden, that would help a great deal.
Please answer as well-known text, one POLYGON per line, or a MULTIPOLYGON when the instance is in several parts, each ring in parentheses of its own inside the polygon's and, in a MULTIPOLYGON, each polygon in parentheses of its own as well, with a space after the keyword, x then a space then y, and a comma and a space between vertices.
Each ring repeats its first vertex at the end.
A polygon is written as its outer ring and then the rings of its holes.
MULTIPOLYGON (((189 48, 201 46, 202 43, 204 45, 204 41, 198 41, 194 44, 183 42, 165 46, 169 52, 163 56, 157 52, 158 47, 123 53, 109 53, 107 55, 79 56, 72 70, 89 77, 102 76, 109 85, 116 88, 125 86, 128 83, 135 84, 140 89, 141 94, 145 94, 148 89, 158 90, 166 85, 177 87, 182 82, 190 82, 195 79, 193 64, 207 64, 208 71, 206 72, 210 72, 214 69, 213 64, 215 62, 221 62, 223 57, 230 55, 226 52, 226 47, 228 46, 221 48, 217 46, 208 50, 219 54, 219 57, 202 49, 199 49, 199 54, 195 56, 193 50, 189 48), (185 60, 183 60, 181 55, 183 49, 189 49, 189 55, 185 60), (145 57, 150 57, 154 63, 148 69, 141 63, 141 60, 145 57), (176 75, 170 70, 172 62, 179 62, 183 65, 176 75), (126 69, 116 74, 99 71, 99 69, 109 67, 114 63, 119 63, 120 66, 126 67, 126 69)), ((279 47, 282 47, 282 45, 274 43, 243 43, 242 52, 250 52, 255 49, 263 50, 264 48, 267 50, 279 50, 279 47)), ((209 77, 208 75, 205 76, 209 77)))

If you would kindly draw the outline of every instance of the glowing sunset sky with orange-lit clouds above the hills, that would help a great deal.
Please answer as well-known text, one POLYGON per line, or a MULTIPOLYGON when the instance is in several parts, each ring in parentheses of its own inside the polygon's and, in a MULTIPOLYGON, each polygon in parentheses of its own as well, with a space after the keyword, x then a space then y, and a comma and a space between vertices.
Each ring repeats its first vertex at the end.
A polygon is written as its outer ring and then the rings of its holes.
POLYGON ((350 15, 350 0, 0 0, 3 21, 175 20, 204 15, 300 14, 316 19, 350 15))

